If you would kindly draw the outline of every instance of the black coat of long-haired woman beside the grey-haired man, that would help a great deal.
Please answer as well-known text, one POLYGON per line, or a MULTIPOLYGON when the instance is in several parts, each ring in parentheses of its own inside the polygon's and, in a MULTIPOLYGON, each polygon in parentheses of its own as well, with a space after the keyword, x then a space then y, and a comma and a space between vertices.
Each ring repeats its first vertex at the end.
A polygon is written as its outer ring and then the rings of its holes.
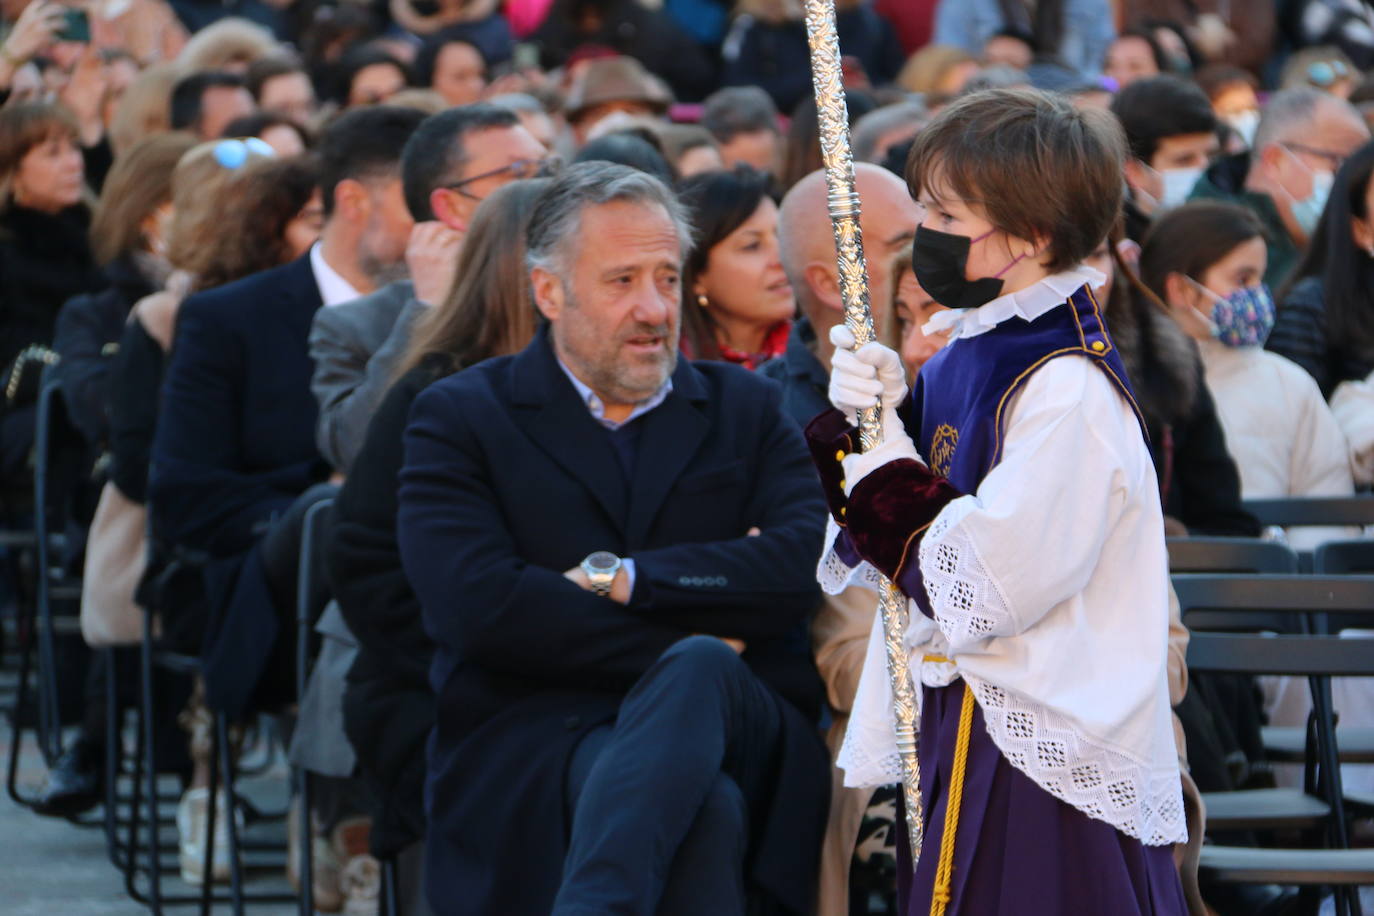
POLYGON ((418 365, 386 393, 334 500, 330 586, 357 639, 344 726, 374 801, 372 851, 390 856, 425 836, 425 739, 434 725, 434 641, 401 569, 397 488, 405 420, 444 365, 418 365))

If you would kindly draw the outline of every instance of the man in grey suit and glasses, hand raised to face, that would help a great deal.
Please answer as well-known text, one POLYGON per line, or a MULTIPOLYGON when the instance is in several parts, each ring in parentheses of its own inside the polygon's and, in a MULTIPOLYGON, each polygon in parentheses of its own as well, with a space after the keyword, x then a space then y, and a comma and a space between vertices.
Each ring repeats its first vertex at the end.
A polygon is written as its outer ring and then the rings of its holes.
POLYGON ((346 474, 363 446, 415 320, 447 298, 477 206, 496 188, 536 174, 547 155, 514 113, 491 104, 441 111, 411 136, 401 152, 405 205, 415 217, 405 250, 409 279, 320 309, 311 328, 316 442, 335 470, 346 474))

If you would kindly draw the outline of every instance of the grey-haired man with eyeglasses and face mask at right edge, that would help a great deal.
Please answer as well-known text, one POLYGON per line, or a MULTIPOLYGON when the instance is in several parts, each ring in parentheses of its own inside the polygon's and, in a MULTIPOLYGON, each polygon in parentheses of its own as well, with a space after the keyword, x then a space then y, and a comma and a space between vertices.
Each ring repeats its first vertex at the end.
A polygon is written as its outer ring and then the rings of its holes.
POLYGON ((1336 172, 1369 139, 1349 102, 1309 88, 1278 92, 1264 106, 1252 151, 1208 169, 1193 198, 1231 201, 1260 217, 1270 254, 1264 282, 1275 288, 1316 231, 1336 172))

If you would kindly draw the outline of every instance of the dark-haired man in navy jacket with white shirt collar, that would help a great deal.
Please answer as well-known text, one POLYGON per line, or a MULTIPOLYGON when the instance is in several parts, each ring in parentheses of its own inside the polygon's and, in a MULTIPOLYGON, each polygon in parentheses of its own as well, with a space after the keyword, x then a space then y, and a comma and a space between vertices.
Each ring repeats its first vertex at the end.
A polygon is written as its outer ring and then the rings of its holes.
POLYGON ((398 158, 422 119, 372 107, 335 121, 319 147, 320 240, 290 264, 192 295, 177 316, 148 504, 159 541, 205 558, 206 700, 231 715, 294 689, 291 509, 328 477, 306 338, 322 305, 371 291, 403 264, 411 220, 398 158))

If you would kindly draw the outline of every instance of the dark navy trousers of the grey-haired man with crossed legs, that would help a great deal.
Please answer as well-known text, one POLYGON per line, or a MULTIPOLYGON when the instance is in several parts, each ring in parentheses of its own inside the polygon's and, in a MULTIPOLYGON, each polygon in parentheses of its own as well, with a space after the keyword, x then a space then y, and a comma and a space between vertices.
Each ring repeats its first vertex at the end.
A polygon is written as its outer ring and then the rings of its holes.
POLYGON ((675 644, 569 766, 573 835, 554 916, 745 912, 750 814, 782 703, 719 639, 675 644))

